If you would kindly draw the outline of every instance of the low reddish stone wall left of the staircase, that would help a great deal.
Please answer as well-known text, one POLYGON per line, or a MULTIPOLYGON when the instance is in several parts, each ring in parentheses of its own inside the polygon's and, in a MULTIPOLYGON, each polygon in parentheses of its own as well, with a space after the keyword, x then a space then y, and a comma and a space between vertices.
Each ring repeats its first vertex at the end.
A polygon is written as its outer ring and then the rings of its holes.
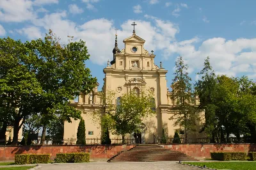
POLYGON ((134 145, 69 145, 69 146, 0 146, 0 161, 14 160, 15 154, 46 154, 51 159, 56 153, 88 152, 90 158, 111 158, 122 150, 129 150, 134 145))

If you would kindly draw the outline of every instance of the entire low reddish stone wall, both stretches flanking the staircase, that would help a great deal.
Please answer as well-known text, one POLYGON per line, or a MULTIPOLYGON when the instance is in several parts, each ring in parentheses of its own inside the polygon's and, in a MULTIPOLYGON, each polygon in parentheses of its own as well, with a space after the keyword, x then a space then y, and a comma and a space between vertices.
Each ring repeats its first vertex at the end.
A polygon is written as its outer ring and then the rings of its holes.
MULTIPOLYGON (((182 151, 191 157, 210 158, 212 151, 256 151, 256 144, 164 144, 168 150, 182 151)), ((89 152, 91 158, 111 158, 120 151, 129 150, 134 145, 68 145, 68 146, 0 146, 0 161, 14 160, 15 154, 89 152)))

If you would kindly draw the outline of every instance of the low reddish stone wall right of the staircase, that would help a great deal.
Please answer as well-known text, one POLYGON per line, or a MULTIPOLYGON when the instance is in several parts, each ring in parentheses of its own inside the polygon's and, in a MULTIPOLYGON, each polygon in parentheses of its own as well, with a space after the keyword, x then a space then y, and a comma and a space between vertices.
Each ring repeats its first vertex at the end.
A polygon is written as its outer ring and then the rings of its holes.
POLYGON ((256 144, 164 144, 168 150, 181 151, 191 157, 211 158, 211 152, 217 151, 256 151, 256 144))

